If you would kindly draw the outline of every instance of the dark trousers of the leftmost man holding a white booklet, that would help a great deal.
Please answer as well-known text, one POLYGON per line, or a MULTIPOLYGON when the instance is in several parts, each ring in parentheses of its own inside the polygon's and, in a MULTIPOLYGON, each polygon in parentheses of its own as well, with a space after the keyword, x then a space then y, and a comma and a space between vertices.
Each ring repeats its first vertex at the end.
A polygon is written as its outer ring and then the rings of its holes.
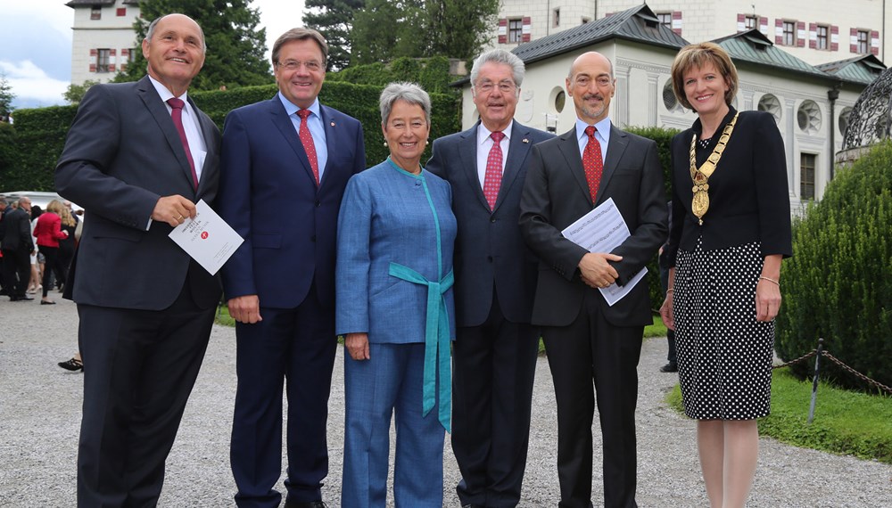
POLYGON ((89 365, 78 506, 158 503, 164 461, 202 366, 214 310, 194 304, 189 283, 161 311, 78 304, 78 344, 89 365))

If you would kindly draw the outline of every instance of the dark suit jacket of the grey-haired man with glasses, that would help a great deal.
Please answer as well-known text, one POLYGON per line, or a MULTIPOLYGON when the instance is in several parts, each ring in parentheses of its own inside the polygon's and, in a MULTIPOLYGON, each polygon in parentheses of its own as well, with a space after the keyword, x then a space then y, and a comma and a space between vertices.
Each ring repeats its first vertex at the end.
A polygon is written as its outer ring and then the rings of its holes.
POLYGON ((452 187, 452 211, 458 220, 455 245, 455 305, 458 326, 483 324, 490 315, 492 290, 502 314, 514 323, 530 323, 536 291, 536 258, 517 227, 520 195, 533 144, 554 137, 514 122, 508 159, 496 206, 490 210, 477 176, 477 128, 434 141, 427 170, 452 187))

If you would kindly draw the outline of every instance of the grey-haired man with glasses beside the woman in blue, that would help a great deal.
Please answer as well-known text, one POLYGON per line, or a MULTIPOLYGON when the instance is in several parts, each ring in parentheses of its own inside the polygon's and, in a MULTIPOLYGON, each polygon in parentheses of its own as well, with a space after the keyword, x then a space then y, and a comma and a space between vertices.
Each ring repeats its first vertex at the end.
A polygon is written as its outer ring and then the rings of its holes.
POLYGON ((537 267, 517 220, 530 149, 553 136, 514 121, 523 79, 513 53, 480 55, 471 69, 480 121, 434 141, 427 163, 449 181, 458 219, 452 450, 463 506, 516 506, 526 467, 537 267))

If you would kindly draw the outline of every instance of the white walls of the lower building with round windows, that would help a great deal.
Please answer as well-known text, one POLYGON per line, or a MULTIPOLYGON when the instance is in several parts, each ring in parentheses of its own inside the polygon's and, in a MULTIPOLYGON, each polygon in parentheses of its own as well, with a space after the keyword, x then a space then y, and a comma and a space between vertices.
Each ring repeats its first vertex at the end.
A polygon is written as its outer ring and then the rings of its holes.
MULTIPOLYGON (((640 22, 634 18, 626 22, 640 22)), ((542 42, 558 37, 561 36, 553 35, 542 42)), ((765 51, 765 46, 774 53, 775 59, 778 55, 783 57, 777 50, 786 51, 786 48, 772 48, 766 37, 753 34, 741 35, 731 43, 744 48, 738 51, 752 51, 755 57, 765 51), (752 48, 747 49, 747 45, 752 48)), ((556 45, 561 42, 544 44, 545 47, 556 45)), ((601 37, 592 44, 577 45, 563 52, 533 52, 532 58, 524 47, 516 48, 515 53, 527 63, 515 119, 558 134, 572 128, 576 117, 573 101, 566 96, 565 77, 578 55, 597 51, 614 62, 616 93, 610 104, 610 119, 617 127, 686 129, 696 115, 681 108, 675 100, 670 74, 679 47, 630 40, 620 35, 601 37)), ((840 87, 838 78, 801 61, 798 68, 791 64, 785 69, 782 65, 737 58, 733 53, 732 57, 739 72, 739 91, 733 105, 740 111, 769 111, 774 116, 786 148, 791 208, 797 213, 807 201, 822 196, 832 176, 833 155, 842 147, 848 111, 866 85, 848 80, 840 87), (835 98, 831 100, 831 97, 835 98)), ((462 104, 462 127, 472 127, 479 114, 469 84, 463 88, 462 104)))

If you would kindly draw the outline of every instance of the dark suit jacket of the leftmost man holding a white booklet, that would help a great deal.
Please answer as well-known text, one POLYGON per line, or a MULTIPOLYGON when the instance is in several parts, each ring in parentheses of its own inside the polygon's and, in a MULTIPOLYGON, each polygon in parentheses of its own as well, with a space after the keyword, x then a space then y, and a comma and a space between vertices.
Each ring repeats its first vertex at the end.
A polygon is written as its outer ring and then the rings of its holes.
MULTIPOLYGON (((80 102, 55 171, 58 193, 86 210, 73 283, 78 303, 161 310, 182 291, 191 258, 170 240, 170 225, 146 225, 162 196, 211 206, 217 196, 219 129, 189 103, 207 145, 197 191, 177 129, 148 77, 92 86, 80 102)), ((189 283, 200 307, 219 300, 219 277, 192 270, 189 283)))

